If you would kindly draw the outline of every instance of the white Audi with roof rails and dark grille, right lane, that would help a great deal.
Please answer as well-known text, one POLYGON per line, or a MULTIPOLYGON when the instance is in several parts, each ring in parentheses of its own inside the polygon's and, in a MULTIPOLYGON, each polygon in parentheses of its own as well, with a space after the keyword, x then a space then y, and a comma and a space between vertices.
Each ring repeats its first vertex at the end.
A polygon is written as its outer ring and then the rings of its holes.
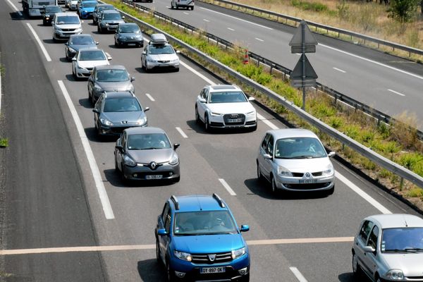
POLYGON ((257 113, 250 101, 236 85, 207 85, 197 96, 195 120, 212 128, 257 129, 257 113))

